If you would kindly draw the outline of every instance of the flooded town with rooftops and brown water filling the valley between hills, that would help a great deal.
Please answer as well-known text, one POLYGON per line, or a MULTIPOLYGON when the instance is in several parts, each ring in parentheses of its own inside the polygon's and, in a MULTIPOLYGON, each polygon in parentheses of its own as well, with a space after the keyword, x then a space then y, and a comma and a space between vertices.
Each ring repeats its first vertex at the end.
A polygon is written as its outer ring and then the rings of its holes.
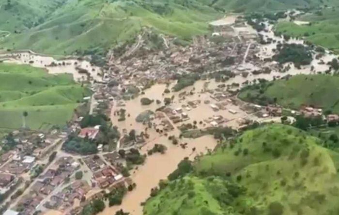
POLYGON ((106 208, 99 215, 121 209, 141 215, 160 180, 183 159, 211 153, 228 132, 280 122, 284 111, 321 114, 312 107, 291 110, 238 98, 241 88, 263 80, 331 73, 328 62, 338 58, 328 50, 312 51, 309 65, 280 64, 273 60, 277 46, 306 43, 264 25, 257 32, 243 16, 225 15, 210 23, 211 35, 197 36, 187 46, 145 29, 123 51, 110 50, 101 67, 86 58, 56 60, 29 50, 0 53, 2 62, 72 74, 93 93, 81 102, 86 113, 75 112, 64 128, 16 130, 1 140, 15 145, 0 156, 1 213, 75 215, 102 199, 106 208), (84 124, 89 115, 107 120, 84 124), (216 130, 221 138, 214 137, 216 130), (95 153, 79 153, 80 146, 69 146, 72 141, 100 144, 95 153), (121 190, 120 204, 108 200, 121 190))

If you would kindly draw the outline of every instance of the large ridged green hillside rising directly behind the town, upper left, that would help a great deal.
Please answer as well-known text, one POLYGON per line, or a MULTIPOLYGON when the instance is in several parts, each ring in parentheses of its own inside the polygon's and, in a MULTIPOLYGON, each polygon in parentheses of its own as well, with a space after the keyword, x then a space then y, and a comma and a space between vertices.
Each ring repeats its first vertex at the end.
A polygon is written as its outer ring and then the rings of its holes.
MULTIPOLYGON (((68 0, 63 4, 58 3, 60 1, 53 0, 58 6, 47 14, 33 11, 36 17, 40 17, 40 21, 33 26, 21 19, 8 18, 8 25, 0 25, 0 30, 11 31, 12 34, 3 39, 0 46, 31 48, 47 54, 83 53, 135 38, 145 26, 189 39, 192 35, 207 33, 208 21, 221 15, 196 0, 68 0), (14 33, 15 30, 19 33, 14 33)), ((44 8, 43 2, 46 1, 35 2, 35 7, 44 8)), ((8 16, 16 14, 19 6, 13 5, 8 10, 12 14, 8 16)), ((1 7, 0 14, 4 10, 1 7)), ((33 22, 28 14, 20 13, 23 20, 33 22)))

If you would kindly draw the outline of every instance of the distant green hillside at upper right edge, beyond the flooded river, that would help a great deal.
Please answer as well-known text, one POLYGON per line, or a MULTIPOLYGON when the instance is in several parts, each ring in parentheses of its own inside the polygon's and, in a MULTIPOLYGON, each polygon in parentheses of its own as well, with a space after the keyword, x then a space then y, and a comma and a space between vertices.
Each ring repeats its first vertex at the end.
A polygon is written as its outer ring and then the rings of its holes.
POLYGON ((338 8, 324 9, 321 13, 304 15, 300 20, 308 21, 310 25, 280 22, 276 29, 283 34, 303 37, 311 43, 339 52, 338 8))

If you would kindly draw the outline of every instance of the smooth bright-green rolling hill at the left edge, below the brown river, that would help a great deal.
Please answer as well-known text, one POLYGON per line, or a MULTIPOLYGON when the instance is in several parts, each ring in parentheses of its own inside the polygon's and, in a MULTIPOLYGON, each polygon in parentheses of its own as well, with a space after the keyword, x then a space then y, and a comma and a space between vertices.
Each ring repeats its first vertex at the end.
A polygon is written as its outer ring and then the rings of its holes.
POLYGON ((0 128, 26 126, 47 129, 64 125, 78 102, 90 92, 76 84, 70 75, 50 75, 29 65, 0 63, 0 128))

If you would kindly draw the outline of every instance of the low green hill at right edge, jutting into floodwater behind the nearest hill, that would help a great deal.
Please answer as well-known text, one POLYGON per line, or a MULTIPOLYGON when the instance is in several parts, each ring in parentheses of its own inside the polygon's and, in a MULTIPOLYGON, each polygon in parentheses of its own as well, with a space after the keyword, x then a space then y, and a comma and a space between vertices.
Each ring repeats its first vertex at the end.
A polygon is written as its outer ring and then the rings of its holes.
POLYGON ((293 109, 312 105, 339 113, 338 86, 337 76, 297 75, 287 80, 248 86, 240 92, 239 98, 262 105, 276 101, 283 107, 293 109))

